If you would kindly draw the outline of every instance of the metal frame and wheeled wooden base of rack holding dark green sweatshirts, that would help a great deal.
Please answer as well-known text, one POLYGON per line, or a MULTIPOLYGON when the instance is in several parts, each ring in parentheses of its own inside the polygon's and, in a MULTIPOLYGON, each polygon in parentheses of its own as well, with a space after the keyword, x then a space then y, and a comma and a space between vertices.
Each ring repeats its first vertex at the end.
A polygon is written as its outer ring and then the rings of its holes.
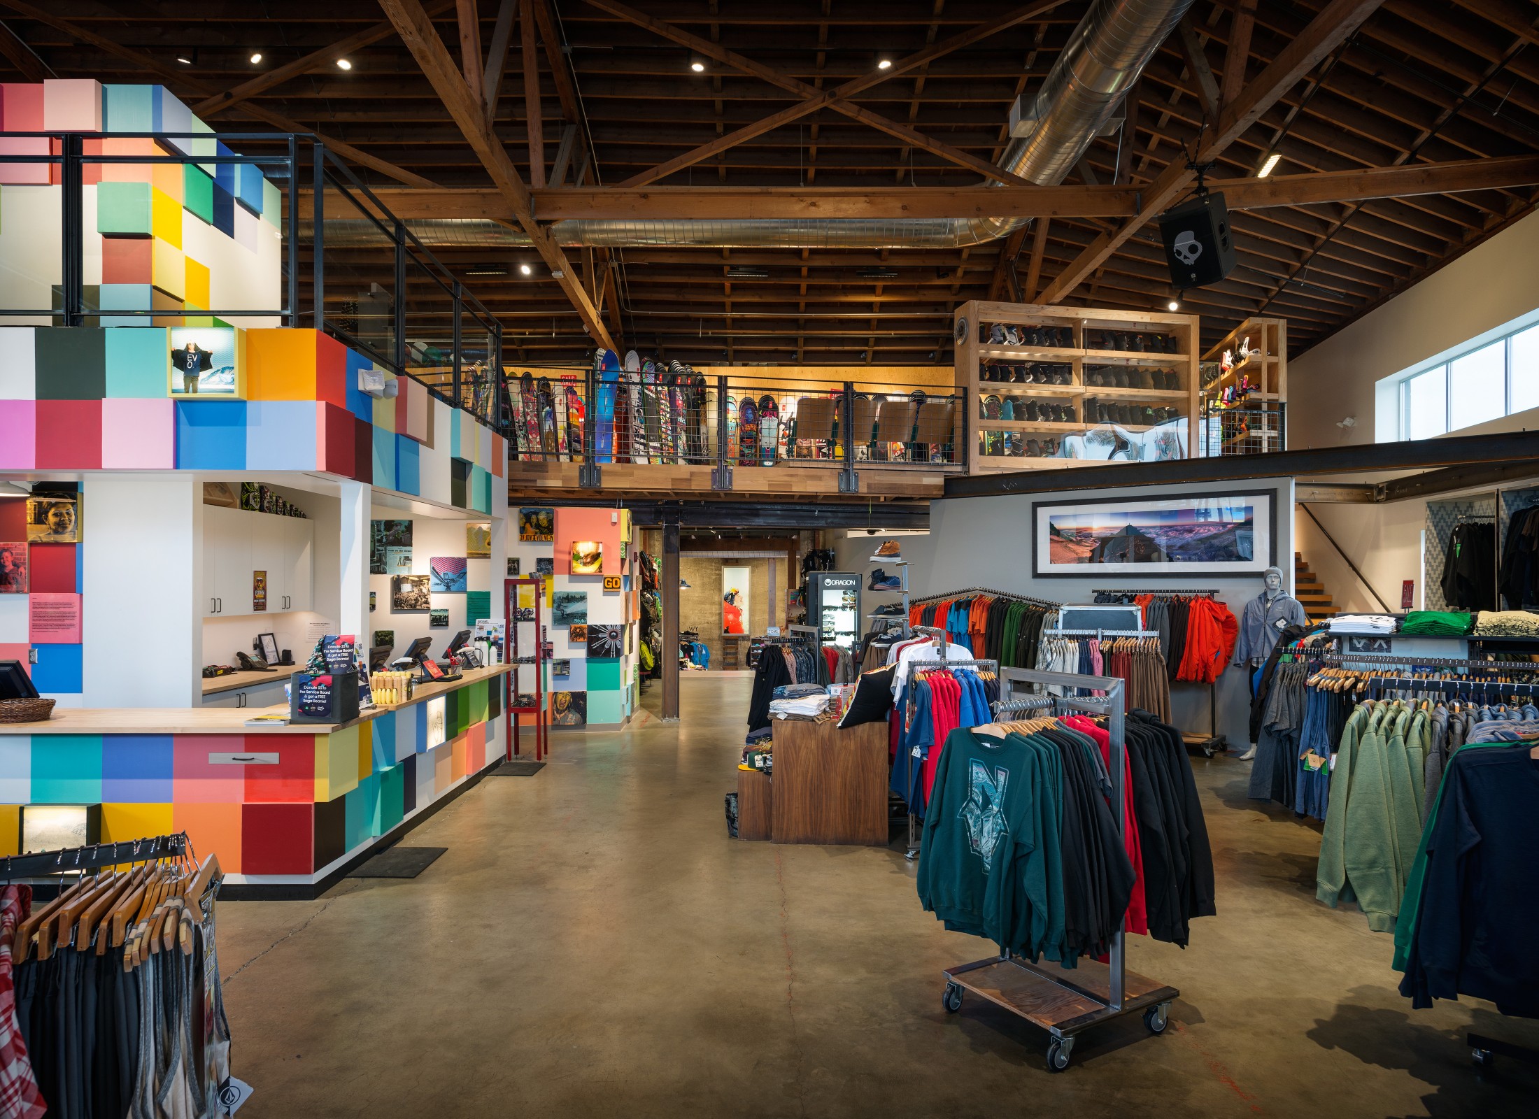
MULTIPOLYGON (((1111 633, 1111 631, 1107 631, 1111 633)), ((1077 673, 1045 673, 1033 668, 1005 668, 999 674, 1000 697, 994 714, 1008 716, 1025 711, 1088 711, 1107 717, 1111 737, 1111 814, 1117 822, 1117 837, 1123 843, 1127 827, 1127 737, 1123 680, 1116 676, 1080 676, 1077 673), (1011 697, 1017 683, 1043 688, 1091 690, 1102 696, 1051 696, 1033 694, 1011 697)), ((1127 970, 1125 939, 1127 914, 1111 937, 1110 964, 1080 959, 1073 970, 1047 968, 1003 951, 994 959, 974 964, 959 964, 945 968, 946 977, 942 1004, 950 1013, 962 1010, 963 991, 988 999, 1013 1014, 1047 1030, 1048 1071, 1068 1068, 1074 1041, 1085 1030, 1123 1014, 1143 1011, 1143 1025, 1150 1033, 1165 1033, 1170 1004, 1180 996, 1174 987, 1127 970)))

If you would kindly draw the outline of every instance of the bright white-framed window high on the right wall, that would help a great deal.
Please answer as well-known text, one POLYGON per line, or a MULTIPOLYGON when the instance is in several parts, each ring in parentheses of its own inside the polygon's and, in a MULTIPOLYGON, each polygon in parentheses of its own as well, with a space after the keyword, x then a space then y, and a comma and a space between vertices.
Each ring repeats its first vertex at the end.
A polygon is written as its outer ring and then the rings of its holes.
POLYGON ((1528 408, 1539 408, 1539 325, 1404 377, 1399 436, 1431 439, 1528 408))

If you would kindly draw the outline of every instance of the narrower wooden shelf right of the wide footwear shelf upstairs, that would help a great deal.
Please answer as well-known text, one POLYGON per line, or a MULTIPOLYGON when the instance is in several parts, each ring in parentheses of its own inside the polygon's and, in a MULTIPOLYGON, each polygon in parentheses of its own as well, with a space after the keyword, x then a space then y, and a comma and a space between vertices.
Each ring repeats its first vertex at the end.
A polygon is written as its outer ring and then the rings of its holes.
POLYGON ((1194 456, 1288 449, 1288 320, 1251 317, 1197 368, 1194 456))

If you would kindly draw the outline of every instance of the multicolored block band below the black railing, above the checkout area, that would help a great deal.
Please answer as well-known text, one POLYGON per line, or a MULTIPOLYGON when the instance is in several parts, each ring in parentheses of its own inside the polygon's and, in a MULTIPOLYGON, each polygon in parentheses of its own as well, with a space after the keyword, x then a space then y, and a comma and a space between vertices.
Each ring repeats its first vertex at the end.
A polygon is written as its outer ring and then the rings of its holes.
POLYGON ((0 471, 323 471, 491 511, 506 443, 409 377, 312 329, 245 329, 245 399, 171 399, 163 326, 0 328, 0 471))

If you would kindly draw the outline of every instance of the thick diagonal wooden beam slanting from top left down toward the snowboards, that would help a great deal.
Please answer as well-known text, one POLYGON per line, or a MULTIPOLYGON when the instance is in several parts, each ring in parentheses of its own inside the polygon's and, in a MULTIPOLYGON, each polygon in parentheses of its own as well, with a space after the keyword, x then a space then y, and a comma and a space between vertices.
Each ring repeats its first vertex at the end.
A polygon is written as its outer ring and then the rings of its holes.
POLYGON ((529 235, 540 259, 551 269, 551 279, 560 285, 566 299, 571 300, 571 305, 577 309, 577 316, 583 320, 593 339, 608 349, 616 349, 616 342, 603 325, 603 319, 594 308, 593 300, 588 299, 588 292, 583 291, 577 271, 566 260, 562 248, 534 220, 534 214, 529 209, 529 188, 523 185, 519 169, 508 157, 502 143, 486 128, 486 119, 480 111, 480 99, 477 97, 480 91, 472 92, 465 85, 465 78, 449 57, 448 48, 443 46, 443 40, 434 31, 432 20, 422 9, 420 0, 380 0, 380 8, 385 9, 391 23, 396 25, 402 42, 406 43, 412 57, 417 58, 417 65, 422 66, 422 72, 426 74, 432 88, 443 100, 445 108, 454 117, 454 123, 460 126, 460 131, 471 148, 476 149, 476 155, 480 157, 497 189, 512 208, 519 225, 529 235))

